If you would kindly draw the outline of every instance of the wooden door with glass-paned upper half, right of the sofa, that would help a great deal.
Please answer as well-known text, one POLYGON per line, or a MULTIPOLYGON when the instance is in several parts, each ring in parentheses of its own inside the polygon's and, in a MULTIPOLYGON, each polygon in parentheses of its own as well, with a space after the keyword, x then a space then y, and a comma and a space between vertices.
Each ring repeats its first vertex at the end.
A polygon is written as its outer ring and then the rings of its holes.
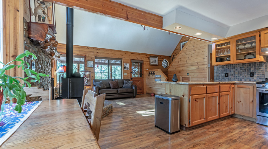
POLYGON ((130 80, 137 86, 137 94, 144 94, 143 63, 131 62, 130 80))

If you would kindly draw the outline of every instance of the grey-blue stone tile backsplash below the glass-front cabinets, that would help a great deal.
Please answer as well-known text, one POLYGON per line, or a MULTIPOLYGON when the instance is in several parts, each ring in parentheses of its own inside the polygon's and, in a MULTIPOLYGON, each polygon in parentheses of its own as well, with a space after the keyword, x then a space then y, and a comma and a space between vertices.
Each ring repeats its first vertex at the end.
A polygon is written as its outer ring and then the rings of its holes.
POLYGON ((263 81, 268 71, 268 62, 240 63, 214 66, 214 80, 220 81, 263 81), (250 77, 254 72, 254 77, 250 77), (225 77, 228 73, 228 77, 225 77))

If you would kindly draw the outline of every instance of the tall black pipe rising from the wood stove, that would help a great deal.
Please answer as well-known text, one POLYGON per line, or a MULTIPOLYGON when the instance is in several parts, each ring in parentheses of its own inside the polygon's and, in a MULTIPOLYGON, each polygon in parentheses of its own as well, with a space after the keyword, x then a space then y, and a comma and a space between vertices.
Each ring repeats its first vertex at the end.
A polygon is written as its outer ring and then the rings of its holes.
POLYGON ((66 11, 66 77, 72 77, 74 67, 74 9, 66 11))

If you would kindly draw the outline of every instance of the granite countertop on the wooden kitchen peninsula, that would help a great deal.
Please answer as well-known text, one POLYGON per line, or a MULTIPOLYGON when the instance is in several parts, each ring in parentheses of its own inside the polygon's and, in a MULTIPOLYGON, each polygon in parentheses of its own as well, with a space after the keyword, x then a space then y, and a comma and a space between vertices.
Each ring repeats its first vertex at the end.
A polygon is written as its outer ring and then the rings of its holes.
POLYGON ((197 84, 230 84, 230 83, 244 83, 244 84, 256 84, 256 82, 250 81, 189 81, 189 82, 172 82, 172 81, 156 81, 157 83, 166 84, 182 84, 182 85, 197 85, 197 84))

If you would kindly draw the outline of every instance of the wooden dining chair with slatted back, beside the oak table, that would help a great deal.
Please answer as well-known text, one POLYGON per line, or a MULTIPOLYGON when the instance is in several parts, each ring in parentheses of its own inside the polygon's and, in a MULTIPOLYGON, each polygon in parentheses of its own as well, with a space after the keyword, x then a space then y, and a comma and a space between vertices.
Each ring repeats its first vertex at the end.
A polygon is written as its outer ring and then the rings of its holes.
POLYGON ((92 132, 94 133, 97 141, 99 141, 99 131, 102 122, 102 112, 104 107, 105 94, 97 94, 90 89, 85 89, 83 92, 81 109, 85 114, 85 117, 88 121, 88 124, 91 127, 92 132), (91 119, 88 119, 88 106, 92 111, 91 119))

